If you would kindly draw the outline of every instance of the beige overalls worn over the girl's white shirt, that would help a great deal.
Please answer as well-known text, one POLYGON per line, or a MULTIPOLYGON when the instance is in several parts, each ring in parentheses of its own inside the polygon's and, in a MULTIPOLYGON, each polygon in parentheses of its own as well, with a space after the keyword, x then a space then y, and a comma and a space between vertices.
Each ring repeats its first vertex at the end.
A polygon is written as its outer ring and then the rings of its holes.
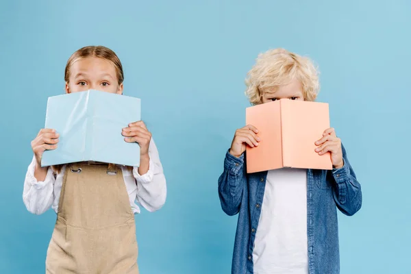
POLYGON ((49 274, 138 274, 134 214, 121 169, 67 166, 47 250, 49 274))

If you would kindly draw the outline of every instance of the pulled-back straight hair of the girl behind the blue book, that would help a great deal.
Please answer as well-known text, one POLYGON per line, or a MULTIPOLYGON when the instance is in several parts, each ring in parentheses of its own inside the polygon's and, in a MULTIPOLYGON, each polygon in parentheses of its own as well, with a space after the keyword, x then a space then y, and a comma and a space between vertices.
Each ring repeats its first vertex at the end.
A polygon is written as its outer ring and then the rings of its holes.
MULTIPOLYGON (((111 49, 103 46, 87 46, 78 49, 73 53, 66 64, 66 69, 64 70, 64 81, 69 83, 70 78, 70 70, 71 66, 77 62, 77 60, 88 58, 88 57, 97 57, 112 62, 114 67, 116 68, 116 76, 117 82, 120 84, 124 81, 124 72, 123 72, 123 65, 120 62, 119 57, 112 51, 111 49)), ((108 164, 108 169, 113 169, 114 164, 108 164)), ((51 166, 55 173, 60 173, 62 171, 62 164, 58 164, 55 166, 51 166)))

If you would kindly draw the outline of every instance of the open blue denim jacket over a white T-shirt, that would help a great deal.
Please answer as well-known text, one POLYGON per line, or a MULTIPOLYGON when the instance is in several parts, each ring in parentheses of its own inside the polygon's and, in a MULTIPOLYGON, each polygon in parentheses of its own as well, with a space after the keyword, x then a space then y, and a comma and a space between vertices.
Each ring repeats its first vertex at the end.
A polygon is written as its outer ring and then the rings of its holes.
MULTIPOLYGON (((351 216, 362 204, 360 183, 343 147, 344 166, 332 171, 308 169, 307 238, 308 272, 340 273, 337 208, 351 216)), ((267 171, 247 174, 245 153, 225 155, 219 177, 221 208, 229 216, 239 213, 232 274, 253 273, 253 246, 258 230, 267 171)))

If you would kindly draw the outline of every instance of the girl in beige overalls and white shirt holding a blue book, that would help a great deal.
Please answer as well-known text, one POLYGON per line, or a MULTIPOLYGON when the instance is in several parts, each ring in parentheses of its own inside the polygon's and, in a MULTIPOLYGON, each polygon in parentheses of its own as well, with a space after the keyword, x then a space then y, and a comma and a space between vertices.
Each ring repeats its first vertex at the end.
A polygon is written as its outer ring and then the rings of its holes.
MULTIPOLYGON (((66 64, 66 93, 95 89, 123 93, 123 67, 106 47, 79 49, 66 64)), ((130 121, 132 122, 132 121, 130 121)), ((41 167, 45 150, 56 149, 59 134, 41 129, 32 141, 34 158, 25 178, 27 210, 50 207, 57 221, 49 244, 46 273, 138 273, 134 214, 153 212, 166 199, 166 179, 151 133, 142 121, 119 134, 140 145, 140 166, 82 162, 41 167)))

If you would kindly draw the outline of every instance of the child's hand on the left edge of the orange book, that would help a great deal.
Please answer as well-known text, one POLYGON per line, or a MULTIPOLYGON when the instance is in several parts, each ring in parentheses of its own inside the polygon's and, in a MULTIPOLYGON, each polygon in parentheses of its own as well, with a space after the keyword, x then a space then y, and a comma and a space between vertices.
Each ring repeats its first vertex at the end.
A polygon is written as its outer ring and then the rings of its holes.
POLYGON ((253 125, 246 125, 245 127, 237 129, 229 153, 238 158, 244 153, 247 145, 250 147, 258 147, 260 137, 258 137, 257 134, 258 129, 253 125))

